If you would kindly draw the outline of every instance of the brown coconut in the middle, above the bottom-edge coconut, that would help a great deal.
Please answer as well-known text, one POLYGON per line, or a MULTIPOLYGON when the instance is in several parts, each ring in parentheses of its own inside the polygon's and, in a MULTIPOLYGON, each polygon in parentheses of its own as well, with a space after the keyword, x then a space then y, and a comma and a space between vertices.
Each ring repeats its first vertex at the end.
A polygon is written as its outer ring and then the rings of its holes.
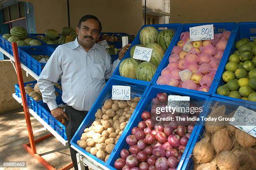
POLYGON ((211 138, 211 145, 217 154, 223 150, 231 150, 233 143, 230 140, 228 130, 226 128, 220 129, 218 132, 213 134, 211 138))

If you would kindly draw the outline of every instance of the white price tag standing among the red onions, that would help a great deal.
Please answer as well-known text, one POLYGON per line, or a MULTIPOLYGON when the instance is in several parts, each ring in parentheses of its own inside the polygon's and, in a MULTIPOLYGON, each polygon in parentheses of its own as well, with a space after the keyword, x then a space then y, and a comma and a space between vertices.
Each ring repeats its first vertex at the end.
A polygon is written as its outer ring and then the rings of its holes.
POLYGON ((168 106, 171 106, 173 108, 176 107, 176 111, 179 113, 186 113, 186 108, 189 108, 189 101, 189 96, 168 96, 168 106))

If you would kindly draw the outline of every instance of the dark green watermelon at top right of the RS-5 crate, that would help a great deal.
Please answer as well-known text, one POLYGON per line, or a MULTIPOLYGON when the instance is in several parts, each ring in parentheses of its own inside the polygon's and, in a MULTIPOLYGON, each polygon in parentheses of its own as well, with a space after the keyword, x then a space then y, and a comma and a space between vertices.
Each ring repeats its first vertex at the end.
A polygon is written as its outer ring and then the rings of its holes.
POLYGON ((174 37, 174 32, 172 30, 169 30, 169 29, 162 30, 158 34, 157 43, 159 43, 160 46, 164 49, 164 51, 166 51, 173 37, 174 37))

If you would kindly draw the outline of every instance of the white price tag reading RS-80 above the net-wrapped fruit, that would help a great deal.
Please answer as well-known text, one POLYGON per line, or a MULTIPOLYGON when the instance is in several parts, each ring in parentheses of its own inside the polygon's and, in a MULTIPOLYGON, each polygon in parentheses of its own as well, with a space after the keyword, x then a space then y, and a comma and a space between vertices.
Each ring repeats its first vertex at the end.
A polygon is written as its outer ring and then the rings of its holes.
POLYGON ((190 41, 213 40, 213 24, 189 28, 190 41))

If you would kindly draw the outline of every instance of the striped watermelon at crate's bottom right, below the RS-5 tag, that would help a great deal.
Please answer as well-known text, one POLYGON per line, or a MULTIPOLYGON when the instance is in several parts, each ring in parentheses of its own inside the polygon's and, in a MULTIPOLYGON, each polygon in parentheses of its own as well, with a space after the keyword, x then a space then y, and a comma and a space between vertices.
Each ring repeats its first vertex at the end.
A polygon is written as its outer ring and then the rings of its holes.
POLYGON ((157 67, 151 62, 140 63, 136 69, 136 78, 143 81, 151 81, 156 73, 157 67))

